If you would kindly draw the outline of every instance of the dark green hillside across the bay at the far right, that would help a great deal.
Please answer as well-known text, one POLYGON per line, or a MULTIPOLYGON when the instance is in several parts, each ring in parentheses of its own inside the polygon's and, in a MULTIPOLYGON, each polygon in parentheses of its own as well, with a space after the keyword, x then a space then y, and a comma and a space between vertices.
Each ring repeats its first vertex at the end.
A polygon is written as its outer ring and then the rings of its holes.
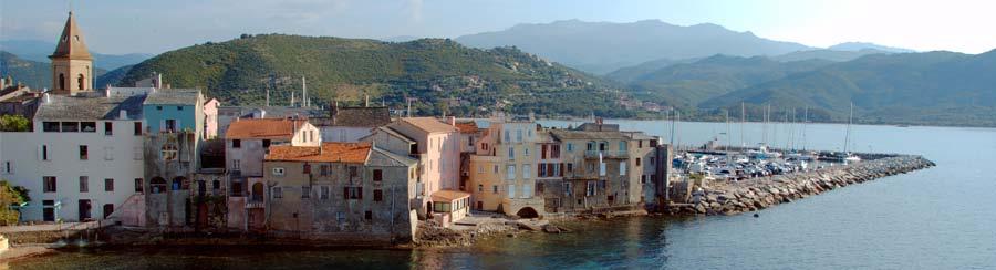
POLYGON ((875 54, 791 74, 701 104, 738 107, 740 102, 776 107, 810 106, 847 117, 849 104, 865 123, 996 125, 996 51, 875 54))

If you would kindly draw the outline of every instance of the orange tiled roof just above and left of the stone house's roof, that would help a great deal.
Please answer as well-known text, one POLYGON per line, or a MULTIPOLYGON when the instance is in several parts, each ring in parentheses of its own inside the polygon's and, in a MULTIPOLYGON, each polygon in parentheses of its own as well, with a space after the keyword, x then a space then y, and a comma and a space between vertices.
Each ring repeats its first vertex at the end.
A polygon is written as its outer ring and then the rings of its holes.
POLYGON ((277 138, 289 139, 308 121, 287 118, 242 118, 231 122, 225 138, 277 138))

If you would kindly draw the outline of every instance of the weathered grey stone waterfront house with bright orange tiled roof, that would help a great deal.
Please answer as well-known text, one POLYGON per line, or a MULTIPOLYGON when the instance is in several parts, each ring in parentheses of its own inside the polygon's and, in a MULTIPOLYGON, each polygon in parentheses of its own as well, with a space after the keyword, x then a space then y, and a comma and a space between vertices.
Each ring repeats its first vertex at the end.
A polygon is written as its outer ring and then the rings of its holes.
POLYGON ((416 159, 366 143, 273 146, 263 168, 268 232, 351 245, 414 239, 416 159))

